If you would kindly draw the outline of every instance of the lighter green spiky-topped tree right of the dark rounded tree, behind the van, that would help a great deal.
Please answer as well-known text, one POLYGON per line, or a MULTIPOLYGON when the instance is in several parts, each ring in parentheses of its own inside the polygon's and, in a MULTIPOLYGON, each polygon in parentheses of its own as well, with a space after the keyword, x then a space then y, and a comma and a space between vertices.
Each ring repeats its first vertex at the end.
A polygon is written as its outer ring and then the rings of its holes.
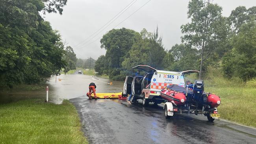
POLYGON ((166 52, 158 35, 158 27, 153 34, 144 28, 141 35, 135 36, 134 44, 122 62, 122 67, 132 72, 132 67, 137 65, 150 65, 154 68, 164 68, 163 59, 166 52))

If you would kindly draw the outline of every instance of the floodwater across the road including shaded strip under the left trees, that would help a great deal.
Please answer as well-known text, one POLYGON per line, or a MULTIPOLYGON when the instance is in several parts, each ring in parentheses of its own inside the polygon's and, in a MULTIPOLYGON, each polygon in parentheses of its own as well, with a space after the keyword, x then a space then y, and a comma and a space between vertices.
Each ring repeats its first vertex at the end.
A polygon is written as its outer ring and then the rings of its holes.
MULTIPOLYGON (((78 70, 74 74, 61 74, 60 76, 54 76, 48 79, 46 86, 48 86, 48 98, 49 102, 60 104, 64 99, 76 98, 79 96, 85 96, 89 91, 89 83, 94 82, 97 86, 96 92, 121 92, 123 88, 123 82, 110 81, 106 78, 96 79, 93 76, 87 76, 78 74, 78 70), (112 82, 113 85, 108 83, 112 82)), ((24 91, 9 90, 0 91, 0 103, 10 103, 18 100, 26 100, 32 98, 46 98, 45 88, 41 90, 24 91)))

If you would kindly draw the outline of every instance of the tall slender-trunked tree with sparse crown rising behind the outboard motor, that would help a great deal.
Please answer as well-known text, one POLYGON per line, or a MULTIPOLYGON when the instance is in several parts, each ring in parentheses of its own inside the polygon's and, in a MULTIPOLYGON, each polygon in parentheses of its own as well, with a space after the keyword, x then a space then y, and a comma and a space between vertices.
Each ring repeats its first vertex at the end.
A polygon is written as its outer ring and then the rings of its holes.
POLYGON ((214 54, 218 45, 226 38, 227 26, 221 16, 222 8, 211 4, 210 0, 191 0, 188 4, 187 15, 191 22, 181 26, 182 42, 197 48, 200 52, 200 73, 202 78, 203 63, 214 54))

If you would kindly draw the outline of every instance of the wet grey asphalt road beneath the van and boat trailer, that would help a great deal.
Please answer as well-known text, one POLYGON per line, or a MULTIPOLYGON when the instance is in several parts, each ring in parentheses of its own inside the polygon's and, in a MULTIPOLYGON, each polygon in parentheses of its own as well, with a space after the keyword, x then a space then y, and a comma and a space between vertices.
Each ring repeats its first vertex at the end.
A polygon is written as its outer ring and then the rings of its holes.
MULTIPOLYGON (((86 79, 86 84, 95 82, 96 92, 122 91, 122 83, 108 85, 108 79, 96 80, 78 74, 70 75, 70 78, 75 79, 77 76, 86 79)), ((161 105, 144 108, 141 103, 130 105, 120 100, 88 100, 85 91, 81 96, 70 99, 70 102, 76 106, 82 130, 92 144, 256 143, 256 129, 223 120, 208 122, 201 115, 188 117, 176 114, 166 120, 161 105)))

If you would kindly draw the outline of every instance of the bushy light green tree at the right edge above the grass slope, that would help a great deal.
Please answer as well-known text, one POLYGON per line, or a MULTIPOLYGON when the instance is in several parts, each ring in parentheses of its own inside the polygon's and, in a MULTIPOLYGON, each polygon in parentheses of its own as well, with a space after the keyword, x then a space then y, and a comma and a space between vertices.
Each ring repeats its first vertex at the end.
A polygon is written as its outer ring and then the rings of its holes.
POLYGON ((232 37, 232 52, 223 57, 222 67, 228 77, 244 81, 256 77, 256 22, 242 24, 237 35, 232 37))

